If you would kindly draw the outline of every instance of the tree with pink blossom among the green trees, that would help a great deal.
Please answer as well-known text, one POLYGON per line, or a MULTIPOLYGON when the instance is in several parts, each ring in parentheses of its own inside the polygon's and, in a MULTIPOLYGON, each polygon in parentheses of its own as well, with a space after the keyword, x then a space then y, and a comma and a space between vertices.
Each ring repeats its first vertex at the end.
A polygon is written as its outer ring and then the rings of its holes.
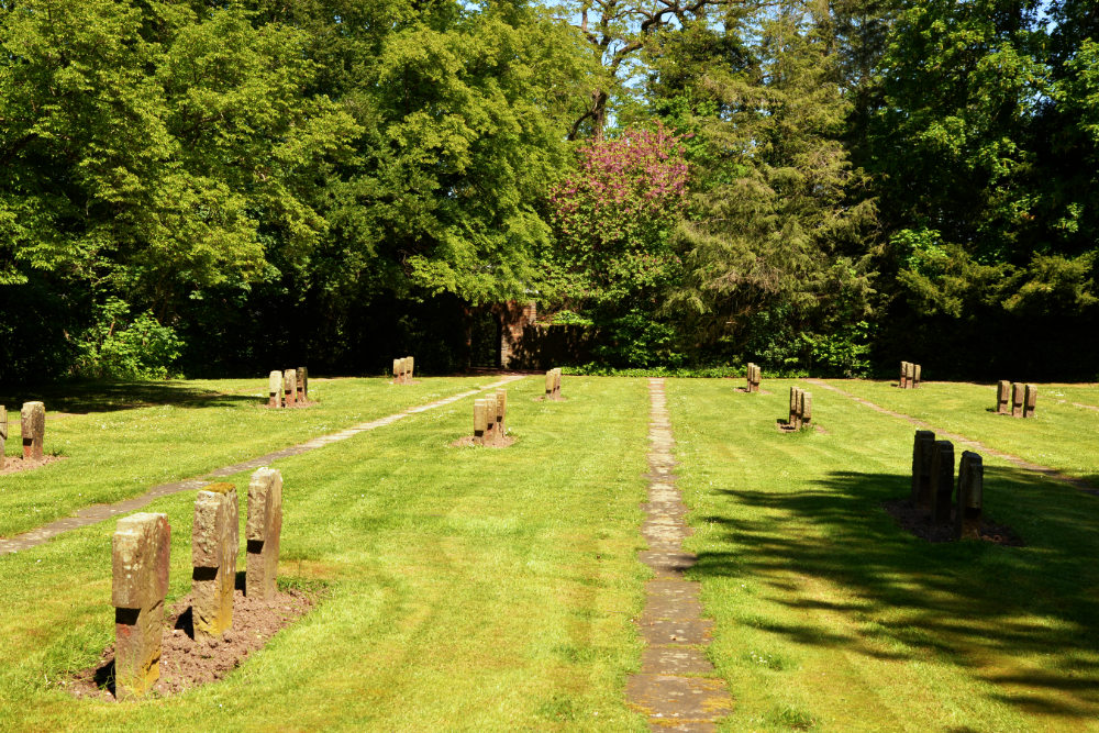
POLYGON ((547 280, 559 307, 604 331, 650 334, 629 346, 629 355, 608 354, 610 362, 666 362, 671 347, 670 327, 660 326, 654 313, 660 291, 680 269, 668 237, 687 209, 681 141, 657 123, 588 142, 577 151, 576 170, 551 191, 556 236, 547 280))

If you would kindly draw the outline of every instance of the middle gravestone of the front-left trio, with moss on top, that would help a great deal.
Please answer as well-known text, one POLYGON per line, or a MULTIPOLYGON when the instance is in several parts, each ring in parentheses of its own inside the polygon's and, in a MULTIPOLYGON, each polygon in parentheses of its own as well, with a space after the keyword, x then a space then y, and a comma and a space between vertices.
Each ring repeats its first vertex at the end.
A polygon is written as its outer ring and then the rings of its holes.
POLYGON ((235 486, 210 484, 199 490, 191 537, 195 638, 218 638, 233 625, 236 553, 241 547, 235 486))

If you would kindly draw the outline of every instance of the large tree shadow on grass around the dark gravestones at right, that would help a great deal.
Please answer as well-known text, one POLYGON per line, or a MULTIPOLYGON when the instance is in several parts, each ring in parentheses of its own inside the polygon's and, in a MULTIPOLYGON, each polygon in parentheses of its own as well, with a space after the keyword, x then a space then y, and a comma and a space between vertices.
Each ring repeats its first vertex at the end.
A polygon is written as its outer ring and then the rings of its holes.
POLYGON ((765 600, 806 611, 808 623, 748 622, 790 641, 875 658, 930 655, 1021 711, 1099 714, 1099 500, 1019 468, 987 467, 986 511, 1028 546, 932 545, 881 509, 908 493, 909 480, 833 471, 808 490, 723 490, 737 504, 730 515, 747 519, 701 518, 724 527, 731 548, 700 552, 692 575, 766 584, 765 600), (807 524, 817 531, 799 530, 807 524), (841 588, 845 600, 821 600, 797 580, 806 576, 841 588), (846 623, 824 629, 814 611, 846 623))

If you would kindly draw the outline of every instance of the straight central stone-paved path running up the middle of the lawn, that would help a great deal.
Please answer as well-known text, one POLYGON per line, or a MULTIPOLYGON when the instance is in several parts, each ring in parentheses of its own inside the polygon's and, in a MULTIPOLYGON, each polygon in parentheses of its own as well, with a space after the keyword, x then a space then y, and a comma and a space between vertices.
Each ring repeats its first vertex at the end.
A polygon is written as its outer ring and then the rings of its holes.
POLYGON ((654 731, 713 731, 733 710, 725 681, 706 656, 713 621, 702 618, 699 584, 684 580, 696 556, 682 551, 690 534, 687 508, 671 474, 675 441, 663 379, 648 380, 648 503, 642 533, 648 549, 640 559, 656 577, 645 586, 639 625, 646 648, 641 673, 626 682, 630 704, 648 717, 654 731))

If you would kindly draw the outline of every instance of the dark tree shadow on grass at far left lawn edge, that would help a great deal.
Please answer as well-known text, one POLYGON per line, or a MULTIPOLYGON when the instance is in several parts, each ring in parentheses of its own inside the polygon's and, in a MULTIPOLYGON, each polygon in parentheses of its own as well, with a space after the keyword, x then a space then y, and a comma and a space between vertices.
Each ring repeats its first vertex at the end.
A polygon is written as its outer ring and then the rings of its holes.
MULTIPOLYGON (((266 381, 256 380, 258 392, 267 388, 266 381)), ((251 391, 251 390, 249 390, 251 391)), ((263 398, 253 395, 226 395, 197 389, 184 381, 112 381, 73 382, 52 385, 25 395, 0 395, 0 404, 18 411, 23 402, 40 400, 47 412, 88 414, 114 412, 133 408, 171 404, 180 408, 237 407, 263 404, 263 398)), ((18 419, 18 418, 16 418, 18 419)))

